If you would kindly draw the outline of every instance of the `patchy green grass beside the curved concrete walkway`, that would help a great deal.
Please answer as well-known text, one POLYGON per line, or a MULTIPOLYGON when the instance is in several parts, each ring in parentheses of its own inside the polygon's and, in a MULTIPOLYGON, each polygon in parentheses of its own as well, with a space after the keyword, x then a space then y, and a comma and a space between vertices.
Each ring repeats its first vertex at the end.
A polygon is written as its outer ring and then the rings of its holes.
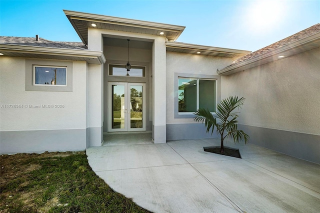
POLYGON ((95 175, 84 152, 19 155, 0 158, 1 212, 149 212, 95 175))

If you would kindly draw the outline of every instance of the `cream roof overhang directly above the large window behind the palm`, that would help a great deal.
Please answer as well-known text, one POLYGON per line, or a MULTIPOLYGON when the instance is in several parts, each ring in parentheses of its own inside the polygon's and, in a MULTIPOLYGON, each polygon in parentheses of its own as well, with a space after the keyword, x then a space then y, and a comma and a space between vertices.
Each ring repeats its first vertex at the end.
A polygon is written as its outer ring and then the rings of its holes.
POLYGON ((232 59, 239 58, 251 52, 251 51, 239 50, 239 49, 220 48, 220 47, 214 47, 214 46, 203 46, 203 45, 197 45, 197 44, 171 42, 171 41, 166 42, 166 51, 210 55, 210 56, 217 56, 217 57, 230 57, 232 59), (197 53, 197 52, 200 52, 200 53, 197 53))

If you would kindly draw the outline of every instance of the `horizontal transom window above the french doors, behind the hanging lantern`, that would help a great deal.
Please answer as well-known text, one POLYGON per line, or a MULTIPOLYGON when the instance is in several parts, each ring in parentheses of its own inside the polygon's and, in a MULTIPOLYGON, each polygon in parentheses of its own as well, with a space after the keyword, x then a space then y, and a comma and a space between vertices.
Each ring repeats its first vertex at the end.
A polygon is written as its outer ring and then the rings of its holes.
POLYGON ((130 71, 127 72, 125 65, 109 64, 109 75, 145 77, 145 66, 131 66, 130 71))

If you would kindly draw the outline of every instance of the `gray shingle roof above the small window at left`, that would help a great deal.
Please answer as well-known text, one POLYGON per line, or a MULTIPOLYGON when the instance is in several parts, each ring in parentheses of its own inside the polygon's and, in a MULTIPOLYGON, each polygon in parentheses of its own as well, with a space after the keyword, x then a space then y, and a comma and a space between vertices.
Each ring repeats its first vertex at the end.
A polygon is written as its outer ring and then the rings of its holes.
POLYGON ((35 37, 0 36, 0 43, 67 49, 87 49, 86 45, 82 42, 52 41, 44 38, 36 40, 35 37))

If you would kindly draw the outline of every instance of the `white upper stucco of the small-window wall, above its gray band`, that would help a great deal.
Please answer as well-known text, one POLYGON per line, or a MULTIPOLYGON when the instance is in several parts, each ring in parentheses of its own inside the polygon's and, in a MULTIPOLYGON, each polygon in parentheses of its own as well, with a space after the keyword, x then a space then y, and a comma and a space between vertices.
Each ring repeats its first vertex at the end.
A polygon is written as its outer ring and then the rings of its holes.
POLYGON ((0 56, 0 104, 23 105, 0 108, 0 130, 85 129, 86 63, 74 61, 72 69, 72 92, 25 91, 25 59, 0 56), (64 107, 30 108, 29 104, 64 107))

